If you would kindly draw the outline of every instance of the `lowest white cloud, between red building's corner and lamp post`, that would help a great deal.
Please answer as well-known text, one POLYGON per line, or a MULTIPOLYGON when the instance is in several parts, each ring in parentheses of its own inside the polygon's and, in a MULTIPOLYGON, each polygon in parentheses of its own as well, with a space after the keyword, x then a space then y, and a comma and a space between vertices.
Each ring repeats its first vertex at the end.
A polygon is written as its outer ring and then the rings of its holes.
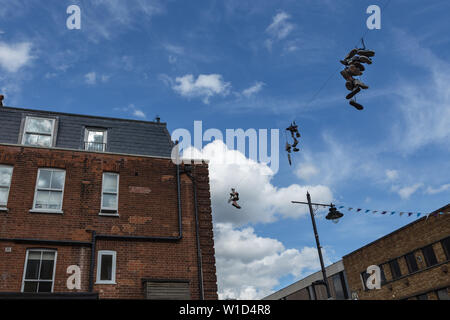
MULTIPOLYGON (((261 299, 283 276, 300 277, 320 268, 316 248, 286 249, 253 228, 234 229, 229 223, 214 228, 219 299, 261 299)), ((326 251, 323 250, 326 262, 326 251)))

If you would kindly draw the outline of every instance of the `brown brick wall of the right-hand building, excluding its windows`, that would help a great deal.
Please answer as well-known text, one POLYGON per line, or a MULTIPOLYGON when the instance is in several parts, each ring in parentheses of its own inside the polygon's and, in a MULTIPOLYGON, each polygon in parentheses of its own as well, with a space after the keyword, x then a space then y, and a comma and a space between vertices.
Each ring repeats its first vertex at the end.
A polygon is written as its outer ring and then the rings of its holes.
POLYGON ((427 294, 428 299, 437 299, 436 289, 450 287, 450 261, 440 242, 450 236, 450 205, 438 211, 446 214, 422 218, 345 256, 343 262, 350 291, 356 292, 359 299, 407 299, 419 294, 427 294), (437 264, 432 267, 426 265, 420 250, 430 244, 437 258, 437 264), (419 267, 413 273, 409 273, 403 256, 410 252, 414 253, 419 267), (395 258, 398 258, 402 275, 394 280, 389 264, 385 263, 395 258), (386 283, 379 290, 365 290, 361 273, 370 265, 380 264, 386 283))

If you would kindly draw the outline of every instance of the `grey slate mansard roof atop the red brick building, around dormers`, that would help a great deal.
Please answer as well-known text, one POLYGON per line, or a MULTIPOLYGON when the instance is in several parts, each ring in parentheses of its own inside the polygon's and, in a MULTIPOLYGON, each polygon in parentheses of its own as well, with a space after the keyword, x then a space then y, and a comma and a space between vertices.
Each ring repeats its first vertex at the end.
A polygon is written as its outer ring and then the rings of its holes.
POLYGON ((20 144, 26 116, 57 119, 56 148, 84 150, 86 127, 105 128, 106 152, 170 157, 173 142, 166 124, 128 119, 77 115, 52 111, 0 107, 0 143, 20 144))

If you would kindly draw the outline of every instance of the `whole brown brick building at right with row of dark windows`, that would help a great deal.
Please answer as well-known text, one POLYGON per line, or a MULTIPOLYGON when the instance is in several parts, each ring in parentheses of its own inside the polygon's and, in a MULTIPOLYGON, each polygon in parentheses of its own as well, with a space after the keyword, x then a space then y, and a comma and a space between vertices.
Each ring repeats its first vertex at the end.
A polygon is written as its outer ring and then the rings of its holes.
POLYGON ((448 300, 450 204, 343 257, 352 297, 448 300), (439 214, 443 212, 445 214, 439 214), (381 270, 381 289, 368 290, 367 267, 381 270))

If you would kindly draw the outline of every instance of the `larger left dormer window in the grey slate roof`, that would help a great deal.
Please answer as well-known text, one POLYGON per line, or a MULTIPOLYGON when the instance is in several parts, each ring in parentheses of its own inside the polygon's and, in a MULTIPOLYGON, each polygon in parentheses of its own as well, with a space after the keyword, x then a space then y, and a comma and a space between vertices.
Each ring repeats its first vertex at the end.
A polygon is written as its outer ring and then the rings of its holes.
POLYGON ((26 117, 23 128, 22 144, 30 146, 52 147, 56 119, 26 117))

